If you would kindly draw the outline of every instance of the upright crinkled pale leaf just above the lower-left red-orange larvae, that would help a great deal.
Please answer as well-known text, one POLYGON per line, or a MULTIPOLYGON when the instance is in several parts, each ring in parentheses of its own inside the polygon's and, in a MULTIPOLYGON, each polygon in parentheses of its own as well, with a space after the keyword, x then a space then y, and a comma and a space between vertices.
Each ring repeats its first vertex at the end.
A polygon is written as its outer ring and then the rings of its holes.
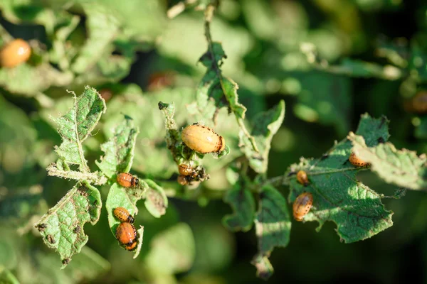
POLYGON ((115 173, 129 172, 132 167, 135 141, 139 130, 133 126, 132 119, 125 116, 125 121, 117 126, 114 133, 109 141, 101 145, 101 150, 105 152, 101 161, 95 161, 98 168, 108 178, 111 178, 115 173))

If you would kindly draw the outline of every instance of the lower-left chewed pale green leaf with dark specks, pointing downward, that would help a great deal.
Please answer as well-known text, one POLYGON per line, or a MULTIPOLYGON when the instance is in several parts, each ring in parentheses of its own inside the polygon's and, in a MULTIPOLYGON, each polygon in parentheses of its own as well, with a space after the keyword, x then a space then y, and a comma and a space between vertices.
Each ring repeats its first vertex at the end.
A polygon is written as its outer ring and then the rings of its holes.
POLYGON ((101 206, 100 192, 88 182, 78 182, 35 224, 46 246, 58 251, 63 268, 88 241, 83 226, 96 224, 101 206))

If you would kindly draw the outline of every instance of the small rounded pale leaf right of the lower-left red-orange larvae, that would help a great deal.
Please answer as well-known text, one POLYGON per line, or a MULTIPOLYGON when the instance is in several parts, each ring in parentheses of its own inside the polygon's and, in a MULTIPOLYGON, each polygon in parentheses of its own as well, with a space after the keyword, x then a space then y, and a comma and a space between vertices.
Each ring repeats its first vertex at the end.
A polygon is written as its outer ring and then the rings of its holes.
POLYGON ((162 187, 153 182, 152 180, 142 180, 147 183, 147 192, 145 193, 145 208, 154 217, 162 217, 167 209, 167 197, 162 187))

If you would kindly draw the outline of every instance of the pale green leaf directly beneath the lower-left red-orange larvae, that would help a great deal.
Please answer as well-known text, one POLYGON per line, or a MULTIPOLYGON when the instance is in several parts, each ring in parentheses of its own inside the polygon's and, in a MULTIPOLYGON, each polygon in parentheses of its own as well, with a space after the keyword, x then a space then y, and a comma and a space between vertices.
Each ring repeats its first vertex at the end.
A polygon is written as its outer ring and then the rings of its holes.
MULTIPOLYGON (((117 226, 119 226, 120 221, 117 220, 113 214, 113 211, 117 207, 123 207, 132 215, 136 216, 138 214, 137 201, 144 197, 144 192, 148 189, 148 185, 139 180, 139 187, 122 187, 117 182, 110 187, 108 192, 107 201, 105 202, 105 209, 107 209, 108 214, 108 224, 112 235, 115 236, 115 231, 117 226)), ((139 251, 142 246, 142 239, 144 235, 144 227, 140 227, 138 230, 138 244, 137 249, 134 253, 134 258, 137 258, 139 251)))

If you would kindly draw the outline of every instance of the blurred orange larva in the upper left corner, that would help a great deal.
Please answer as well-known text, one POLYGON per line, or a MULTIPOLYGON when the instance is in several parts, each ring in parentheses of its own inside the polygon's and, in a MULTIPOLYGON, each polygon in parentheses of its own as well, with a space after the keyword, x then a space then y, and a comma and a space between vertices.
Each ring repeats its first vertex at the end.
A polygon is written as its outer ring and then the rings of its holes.
POLYGON ((0 51, 0 65, 2 67, 15 67, 26 62, 31 56, 31 47, 25 40, 16 38, 6 43, 0 51))

